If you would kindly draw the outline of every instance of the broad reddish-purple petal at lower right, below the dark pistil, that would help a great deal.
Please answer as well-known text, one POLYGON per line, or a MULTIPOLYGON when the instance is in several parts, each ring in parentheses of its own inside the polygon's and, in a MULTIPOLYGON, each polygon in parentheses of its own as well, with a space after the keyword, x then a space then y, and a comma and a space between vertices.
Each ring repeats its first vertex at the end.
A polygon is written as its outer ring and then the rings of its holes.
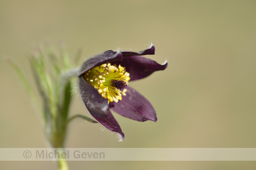
POLYGON ((156 112, 151 103, 132 87, 126 87, 126 96, 121 101, 109 103, 109 107, 124 117, 144 122, 156 121, 156 112))

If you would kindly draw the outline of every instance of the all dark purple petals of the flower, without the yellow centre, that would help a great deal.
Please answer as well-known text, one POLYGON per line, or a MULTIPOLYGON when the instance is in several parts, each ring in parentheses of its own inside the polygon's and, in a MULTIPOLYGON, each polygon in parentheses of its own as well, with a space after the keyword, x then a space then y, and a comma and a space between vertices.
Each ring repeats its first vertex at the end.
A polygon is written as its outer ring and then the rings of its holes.
POLYGON ((168 65, 167 62, 160 65, 156 61, 141 57, 141 55, 154 54, 154 50, 155 48, 153 45, 148 49, 139 52, 114 52, 109 50, 87 59, 81 67, 79 73, 79 88, 83 102, 90 114, 98 120, 99 123, 102 123, 107 129, 120 134, 122 139, 124 139, 124 133, 111 114, 109 108, 122 116, 144 122, 146 120, 157 120, 153 106, 146 98, 131 87, 126 87, 126 96, 123 96, 121 101, 118 101, 117 103, 111 102, 108 105, 108 100, 102 98, 98 93, 98 90, 83 79, 83 74, 96 66, 111 63, 112 65, 120 64, 125 67, 127 72, 130 73, 130 80, 142 79, 155 71, 166 69, 168 65))

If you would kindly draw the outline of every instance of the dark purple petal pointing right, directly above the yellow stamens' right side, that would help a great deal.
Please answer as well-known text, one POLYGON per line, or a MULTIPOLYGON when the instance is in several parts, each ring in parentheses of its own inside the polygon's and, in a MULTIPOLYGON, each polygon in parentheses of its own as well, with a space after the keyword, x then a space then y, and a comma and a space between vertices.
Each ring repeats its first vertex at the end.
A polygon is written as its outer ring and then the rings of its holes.
POLYGON ((126 71, 130 73, 131 80, 138 80, 147 77, 155 71, 166 69, 168 65, 167 62, 161 65, 154 60, 141 56, 130 56, 124 58, 123 61, 116 61, 111 64, 120 64, 125 67, 126 71))

